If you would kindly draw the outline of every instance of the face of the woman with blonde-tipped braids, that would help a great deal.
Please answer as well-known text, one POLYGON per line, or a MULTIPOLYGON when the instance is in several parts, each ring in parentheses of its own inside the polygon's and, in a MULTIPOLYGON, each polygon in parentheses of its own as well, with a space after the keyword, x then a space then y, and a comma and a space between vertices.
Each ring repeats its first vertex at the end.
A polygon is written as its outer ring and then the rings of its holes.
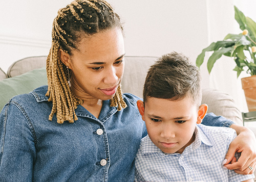
POLYGON ((124 54, 119 28, 82 38, 65 63, 72 70, 74 94, 81 99, 111 99, 122 80, 124 54))

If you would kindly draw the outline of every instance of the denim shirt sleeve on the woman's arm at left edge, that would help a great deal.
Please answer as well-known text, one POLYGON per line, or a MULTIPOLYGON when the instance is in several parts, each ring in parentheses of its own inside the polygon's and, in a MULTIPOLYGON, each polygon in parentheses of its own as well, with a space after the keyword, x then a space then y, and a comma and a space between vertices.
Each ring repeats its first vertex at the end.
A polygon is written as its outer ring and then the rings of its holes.
POLYGON ((1 180, 32 181, 36 158, 33 135, 24 110, 17 103, 7 104, 0 114, 1 180))

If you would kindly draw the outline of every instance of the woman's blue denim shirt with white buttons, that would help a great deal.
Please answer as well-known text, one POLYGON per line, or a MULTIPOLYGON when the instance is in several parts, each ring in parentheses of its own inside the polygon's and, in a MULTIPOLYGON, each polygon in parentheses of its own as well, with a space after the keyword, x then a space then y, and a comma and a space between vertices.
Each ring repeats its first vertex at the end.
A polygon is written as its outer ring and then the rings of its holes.
MULTIPOLYGON (((117 111, 103 101, 98 118, 82 106, 78 120, 48 120, 52 102, 47 86, 14 96, 0 115, 0 181, 133 181, 134 159, 146 136, 144 121, 132 94, 127 108, 117 111)), ((204 124, 229 126, 209 114, 204 124), (214 122, 212 122, 214 121, 214 122)))

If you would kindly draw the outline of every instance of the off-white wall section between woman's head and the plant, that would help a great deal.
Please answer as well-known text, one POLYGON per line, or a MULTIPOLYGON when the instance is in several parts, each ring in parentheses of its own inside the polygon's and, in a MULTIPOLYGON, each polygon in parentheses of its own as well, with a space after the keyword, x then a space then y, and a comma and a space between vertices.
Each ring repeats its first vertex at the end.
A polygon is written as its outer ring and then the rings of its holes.
MULTIPOLYGON (((109 0, 124 21, 126 55, 161 56, 171 51, 196 60, 208 45, 205 0, 109 0)), ((209 86, 206 70, 203 85, 209 86)))

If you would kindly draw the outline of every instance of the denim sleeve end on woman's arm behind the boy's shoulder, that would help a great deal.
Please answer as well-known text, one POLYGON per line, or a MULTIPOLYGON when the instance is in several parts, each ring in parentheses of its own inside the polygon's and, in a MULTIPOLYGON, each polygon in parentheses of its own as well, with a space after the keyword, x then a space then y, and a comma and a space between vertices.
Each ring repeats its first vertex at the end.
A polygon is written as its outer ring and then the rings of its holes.
POLYGON ((202 124, 207 126, 222 126, 222 127, 230 127, 233 124, 229 119, 226 119, 222 116, 216 116, 214 113, 208 113, 205 115, 202 124))

